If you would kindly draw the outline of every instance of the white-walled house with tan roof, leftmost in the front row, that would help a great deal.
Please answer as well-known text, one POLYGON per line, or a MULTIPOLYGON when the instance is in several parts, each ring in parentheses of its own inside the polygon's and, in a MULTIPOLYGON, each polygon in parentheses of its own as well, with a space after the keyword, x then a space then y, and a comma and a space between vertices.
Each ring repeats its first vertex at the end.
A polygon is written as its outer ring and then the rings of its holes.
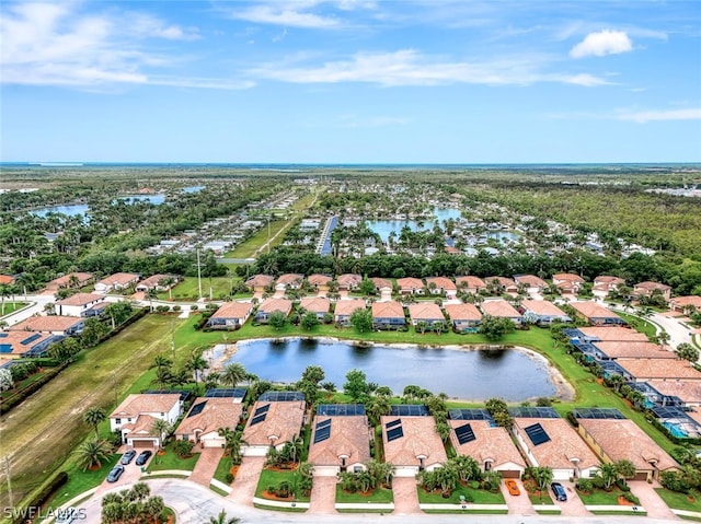
POLYGON ((161 419, 174 424, 182 408, 179 393, 131 394, 110 415, 110 429, 133 447, 160 447, 163 435, 153 432, 153 423, 161 419))

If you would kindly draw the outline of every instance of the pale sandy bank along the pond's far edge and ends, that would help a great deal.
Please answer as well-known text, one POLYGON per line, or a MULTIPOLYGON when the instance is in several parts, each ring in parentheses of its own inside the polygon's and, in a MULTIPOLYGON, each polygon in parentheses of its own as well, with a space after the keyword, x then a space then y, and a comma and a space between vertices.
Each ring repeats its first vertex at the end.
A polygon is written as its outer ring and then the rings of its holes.
MULTIPOLYGON (((222 348, 222 353, 217 357, 216 359, 214 357, 211 357, 211 360, 209 360, 209 365, 210 365, 210 370, 212 371, 219 371, 222 368, 223 362, 226 362, 227 360, 229 360, 233 354, 235 354, 235 352, 239 349, 239 345, 240 343, 245 343, 248 341, 253 341, 253 340, 299 340, 299 339, 313 339, 319 341, 320 343, 335 343, 335 342, 342 342, 342 343, 356 343, 357 346, 366 346, 366 347, 377 347, 377 346, 382 346, 382 347, 391 347, 391 348, 440 348, 440 349, 450 349, 453 351, 482 351, 482 350, 516 350, 516 351, 520 351, 521 353, 525 353, 528 358, 540 362, 541 364, 543 364, 545 366, 545 369, 548 370, 548 375, 550 376, 550 381, 552 382, 552 385, 555 388, 555 397, 559 398, 560 400, 563 401, 572 401, 575 398, 575 389, 572 386, 572 384, 570 384, 567 381, 565 381, 564 376, 562 376, 562 373, 560 373, 560 370, 558 370, 554 365, 552 365, 550 363, 550 361, 543 357, 542 354, 540 354, 538 351, 529 349, 529 348, 525 348, 522 346, 502 346, 502 345, 496 345, 496 343, 492 343, 492 345, 486 345, 486 343, 480 343, 480 345, 455 345, 455 343, 449 343, 449 345, 440 345, 440 343, 388 343, 388 342, 374 342, 374 341, 365 341, 365 340, 348 340, 348 339, 341 339, 341 338, 335 338, 335 337, 301 337, 301 336, 297 336, 297 337, 275 337, 275 338, 255 338, 255 339, 246 339, 246 340, 238 340, 235 342, 230 342, 230 343, 218 343, 212 349, 207 350, 203 353, 203 357, 207 360, 210 359, 209 354, 216 350, 216 348, 222 348)), ((473 404, 481 404, 484 403, 484 399, 469 399, 469 398, 450 398, 451 401, 459 401, 459 403, 473 403, 473 404)))

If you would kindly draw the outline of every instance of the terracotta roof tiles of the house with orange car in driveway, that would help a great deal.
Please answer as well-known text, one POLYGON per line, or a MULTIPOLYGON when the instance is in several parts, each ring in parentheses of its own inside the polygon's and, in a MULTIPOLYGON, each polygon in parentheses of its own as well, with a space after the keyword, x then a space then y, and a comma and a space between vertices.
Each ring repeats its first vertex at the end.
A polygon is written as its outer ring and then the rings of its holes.
POLYGON ((493 428, 486 420, 448 420, 450 428, 450 442, 459 455, 471 456, 482 466, 489 459, 494 467, 499 467, 506 463, 513 463, 521 468, 526 463, 512 441, 512 436, 504 428, 493 428), (475 439, 471 442, 460 444, 455 430, 466 423, 470 424, 475 439))

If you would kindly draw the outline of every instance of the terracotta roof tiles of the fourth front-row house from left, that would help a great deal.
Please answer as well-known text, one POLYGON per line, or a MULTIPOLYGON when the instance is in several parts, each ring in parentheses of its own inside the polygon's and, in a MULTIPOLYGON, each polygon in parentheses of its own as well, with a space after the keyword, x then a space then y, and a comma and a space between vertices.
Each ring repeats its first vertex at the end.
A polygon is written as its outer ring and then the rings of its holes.
POLYGON ((309 446, 309 462, 314 466, 341 466, 341 456, 346 464, 365 464, 370 459, 370 429, 365 415, 352 417, 317 416, 309 446), (317 424, 331 420, 329 439, 314 444, 317 424))

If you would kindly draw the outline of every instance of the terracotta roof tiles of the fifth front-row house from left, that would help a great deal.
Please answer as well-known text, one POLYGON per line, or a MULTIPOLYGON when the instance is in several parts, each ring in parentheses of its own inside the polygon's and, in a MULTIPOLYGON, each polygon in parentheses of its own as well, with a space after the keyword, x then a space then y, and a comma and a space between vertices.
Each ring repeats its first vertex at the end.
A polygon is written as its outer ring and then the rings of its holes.
POLYGON ((384 461, 394 466, 418 466, 418 456, 425 456, 424 467, 443 464, 448 461, 446 449, 433 417, 393 417, 381 418, 384 461), (387 423, 401 419, 403 436, 387 442, 387 423))

